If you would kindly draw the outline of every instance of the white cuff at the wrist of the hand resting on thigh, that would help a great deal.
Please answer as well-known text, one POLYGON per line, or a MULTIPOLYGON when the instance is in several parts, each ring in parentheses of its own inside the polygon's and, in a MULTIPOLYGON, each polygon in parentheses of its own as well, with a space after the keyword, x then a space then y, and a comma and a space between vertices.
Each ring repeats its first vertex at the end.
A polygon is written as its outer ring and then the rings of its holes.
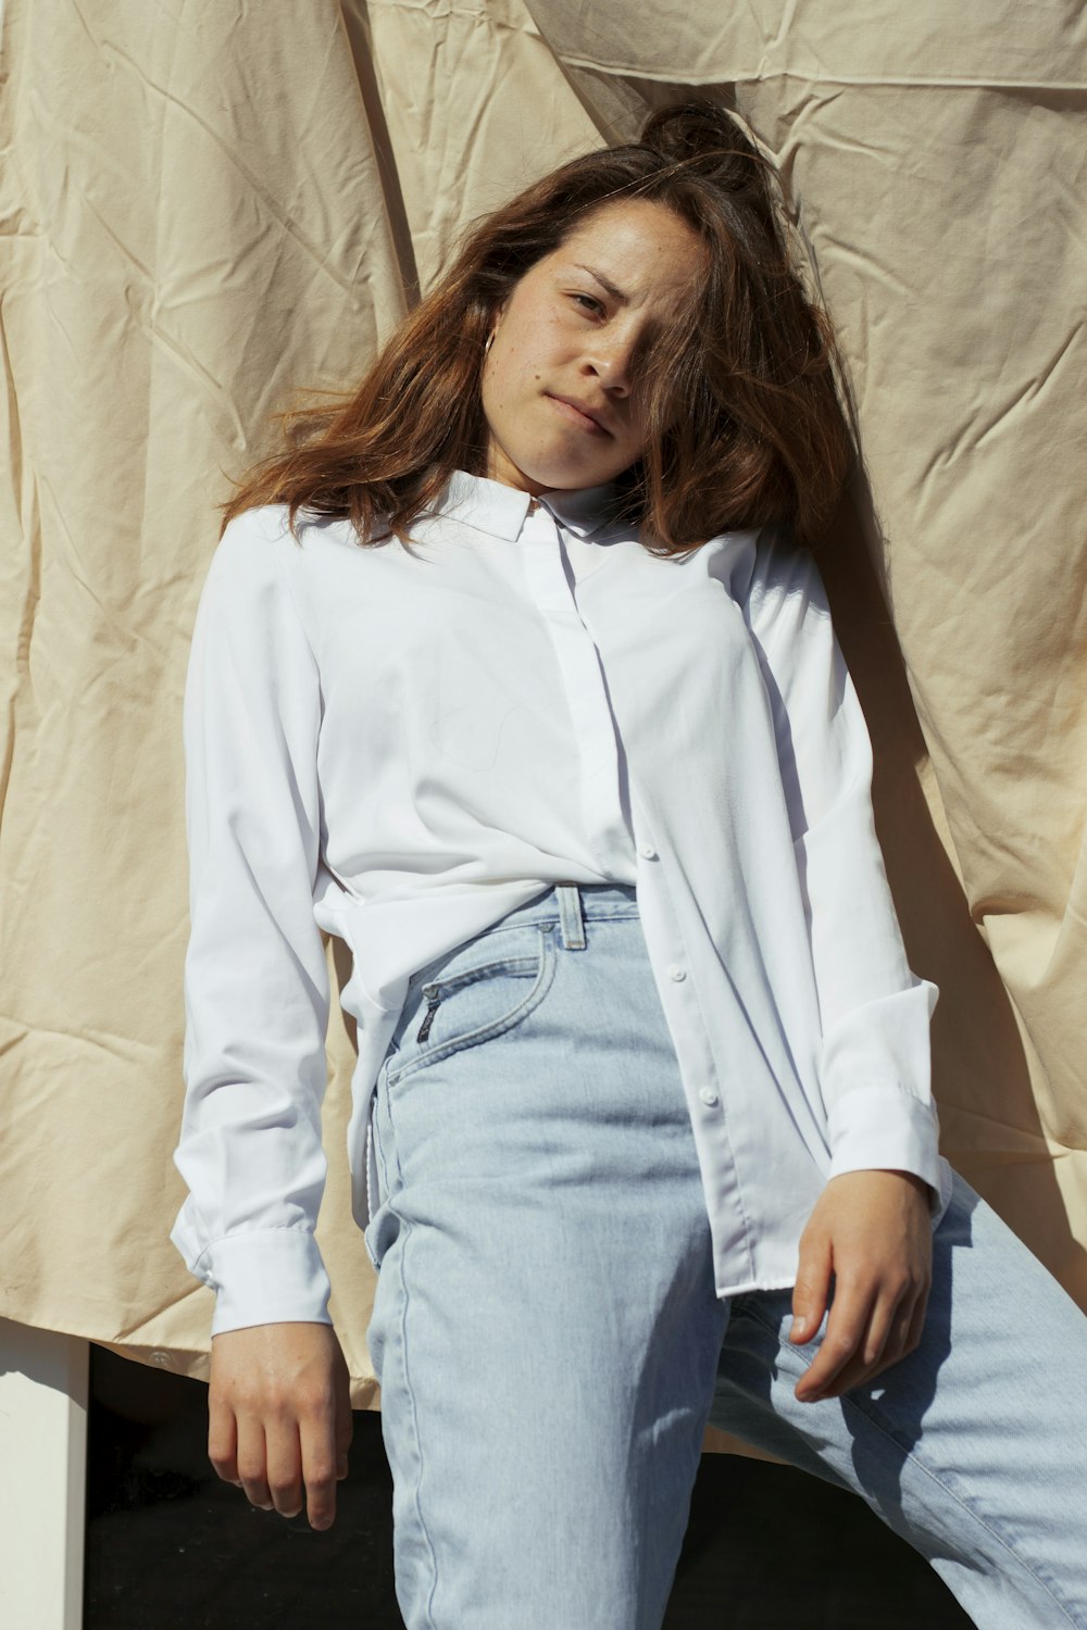
POLYGON ((932 1216, 945 1208, 935 1104, 904 1087, 852 1087, 828 1110, 831 1177, 843 1172, 913 1172, 929 1185, 932 1216))

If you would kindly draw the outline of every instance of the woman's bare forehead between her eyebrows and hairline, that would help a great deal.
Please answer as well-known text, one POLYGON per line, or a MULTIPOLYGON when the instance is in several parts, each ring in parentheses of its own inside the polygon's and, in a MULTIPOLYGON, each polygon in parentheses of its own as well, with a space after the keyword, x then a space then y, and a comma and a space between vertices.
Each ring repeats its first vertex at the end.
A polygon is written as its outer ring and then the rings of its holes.
POLYGON ((624 199, 603 204, 546 259, 601 274, 629 305, 673 298, 696 279, 706 244, 665 204, 624 199))

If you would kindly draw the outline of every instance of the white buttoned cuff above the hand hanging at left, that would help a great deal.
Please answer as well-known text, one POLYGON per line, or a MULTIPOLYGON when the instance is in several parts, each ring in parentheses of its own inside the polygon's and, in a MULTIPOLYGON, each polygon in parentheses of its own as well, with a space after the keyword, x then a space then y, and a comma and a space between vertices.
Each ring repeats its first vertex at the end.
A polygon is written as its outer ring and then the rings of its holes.
POLYGON ((310 1229, 246 1229, 217 1239, 199 1263, 212 1286, 212 1335, 259 1324, 331 1324, 331 1284, 310 1229))

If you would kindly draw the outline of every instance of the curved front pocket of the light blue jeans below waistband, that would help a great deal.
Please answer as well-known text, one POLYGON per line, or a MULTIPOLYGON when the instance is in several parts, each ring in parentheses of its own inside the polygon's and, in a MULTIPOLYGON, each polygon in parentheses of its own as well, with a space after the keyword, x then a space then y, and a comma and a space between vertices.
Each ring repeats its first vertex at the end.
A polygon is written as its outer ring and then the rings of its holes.
POLYGON ((458 947, 407 988, 386 1060, 386 1086, 468 1046, 505 1035, 548 994, 557 952, 554 923, 491 929, 458 947))

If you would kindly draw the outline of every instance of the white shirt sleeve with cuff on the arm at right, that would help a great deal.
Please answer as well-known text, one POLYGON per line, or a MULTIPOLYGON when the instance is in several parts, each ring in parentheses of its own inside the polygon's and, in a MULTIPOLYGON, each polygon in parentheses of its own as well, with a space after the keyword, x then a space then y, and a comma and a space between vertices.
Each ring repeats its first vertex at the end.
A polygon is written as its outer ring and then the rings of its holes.
POLYGON ((872 747, 815 561, 759 538, 748 592, 789 804, 821 1019, 830 1177, 913 1172, 942 1203, 931 1092, 937 988, 911 973, 872 813, 872 747))

